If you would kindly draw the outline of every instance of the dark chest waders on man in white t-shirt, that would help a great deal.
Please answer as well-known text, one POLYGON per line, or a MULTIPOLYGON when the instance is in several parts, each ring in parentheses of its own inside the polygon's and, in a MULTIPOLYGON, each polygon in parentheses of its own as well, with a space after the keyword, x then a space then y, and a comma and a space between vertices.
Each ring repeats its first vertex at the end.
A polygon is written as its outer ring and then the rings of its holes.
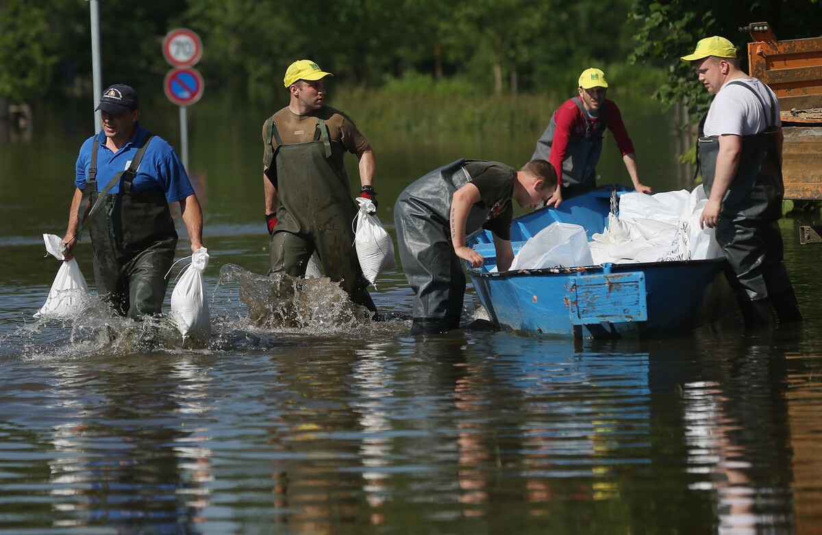
MULTIPOLYGON (((728 82, 750 89, 762 105, 760 95, 739 81, 728 82)), ((765 130, 742 136, 742 152, 737 174, 723 199, 716 238, 736 277, 728 277, 737 291, 737 300, 764 300, 791 290, 783 264, 783 241, 777 221, 782 216, 784 194, 782 166, 778 157, 776 103, 771 96, 770 119, 765 130)), ((707 117, 707 116, 706 116, 707 117)), ((698 171, 702 172, 705 194, 710 197, 719 153, 718 136, 704 135, 705 118, 700 121, 698 171)))

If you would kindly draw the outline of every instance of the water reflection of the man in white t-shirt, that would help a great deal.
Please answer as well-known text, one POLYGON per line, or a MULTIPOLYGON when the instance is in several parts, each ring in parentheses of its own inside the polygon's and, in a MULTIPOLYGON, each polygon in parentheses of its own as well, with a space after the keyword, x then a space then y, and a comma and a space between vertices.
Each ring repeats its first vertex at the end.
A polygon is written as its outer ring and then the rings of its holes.
POLYGON ((672 366, 688 490, 709 496, 719 533, 794 529, 786 359, 772 336, 697 337, 693 365, 672 366))

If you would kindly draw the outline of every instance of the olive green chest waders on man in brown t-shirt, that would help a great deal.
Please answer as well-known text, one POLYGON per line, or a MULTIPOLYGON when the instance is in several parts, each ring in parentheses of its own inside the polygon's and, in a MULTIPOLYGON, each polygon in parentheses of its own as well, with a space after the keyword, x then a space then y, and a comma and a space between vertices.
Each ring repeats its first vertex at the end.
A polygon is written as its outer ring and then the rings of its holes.
POLYGON ((316 250, 326 277, 339 282, 354 303, 376 311, 353 246, 357 206, 343 166, 344 149, 330 143, 322 119, 317 120, 314 139, 307 143, 284 144, 271 118, 266 121, 266 135, 266 167, 275 166, 272 182, 278 203, 269 274, 304 277, 316 250))

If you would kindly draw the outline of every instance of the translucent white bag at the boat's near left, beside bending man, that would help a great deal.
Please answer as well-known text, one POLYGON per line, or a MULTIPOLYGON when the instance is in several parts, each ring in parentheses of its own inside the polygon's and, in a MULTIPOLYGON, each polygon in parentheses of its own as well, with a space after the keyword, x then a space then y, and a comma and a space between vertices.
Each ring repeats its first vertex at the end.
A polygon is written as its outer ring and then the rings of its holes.
POLYGON ((574 268, 591 266, 593 258, 585 229, 554 222, 525 242, 511 269, 574 268))

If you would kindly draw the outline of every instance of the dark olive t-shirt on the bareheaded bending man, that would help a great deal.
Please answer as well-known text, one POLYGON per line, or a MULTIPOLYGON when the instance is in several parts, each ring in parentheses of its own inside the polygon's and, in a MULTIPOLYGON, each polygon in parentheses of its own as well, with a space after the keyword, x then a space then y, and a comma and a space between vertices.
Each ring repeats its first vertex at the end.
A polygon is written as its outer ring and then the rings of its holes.
POLYGON ((479 190, 479 208, 491 208, 483 228, 503 240, 510 240, 514 207, 514 174, 511 167, 500 162, 468 162, 465 164, 471 183, 479 190))

